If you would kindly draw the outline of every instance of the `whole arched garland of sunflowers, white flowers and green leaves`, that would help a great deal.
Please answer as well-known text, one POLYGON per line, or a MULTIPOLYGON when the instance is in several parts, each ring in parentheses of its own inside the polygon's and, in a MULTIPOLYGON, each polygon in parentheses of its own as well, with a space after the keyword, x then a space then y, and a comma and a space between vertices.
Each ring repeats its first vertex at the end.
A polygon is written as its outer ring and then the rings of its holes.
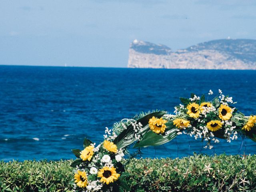
MULTIPOLYGON (((213 94, 212 90, 208 95, 213 94)), ((212 142, 219 139, 227 142, 238 136, 246 136, 256 142, 256 116, 244 116, 233 106, 232 97, 219 95, 210 101, 195 94, 191 98, 180 98, 182 104, 175 107, 175 115, 165 111, 140 114, 133 119, 124 119, 106 128, 104 141, 96 146, 84 139, 84 150, 74 149, 78 158, 71 166, 74 174, 74 192, 129 191, 128 174, 124 167, 127 147, 158 146, 169 142, 180 134, 194 136, 207 142, 204 148, 211 149, 212 142)))

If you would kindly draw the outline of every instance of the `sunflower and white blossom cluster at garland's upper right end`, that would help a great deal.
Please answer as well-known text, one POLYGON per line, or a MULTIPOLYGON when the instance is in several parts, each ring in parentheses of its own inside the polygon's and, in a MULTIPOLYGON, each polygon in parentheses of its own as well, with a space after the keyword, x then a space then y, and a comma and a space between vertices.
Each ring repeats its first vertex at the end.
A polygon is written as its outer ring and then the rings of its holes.
MULTIPOLYGON (((220 142, 219 138, 227 142, 236 140, 238 134, 249 136, 255 140, 254 131, 250 130, 256 123, 256 116, 244 116, 234 107, 232 97, 225 96, 221 90, 219 95, 211 101, 206 101, 205 96, 198 97, 191 94, 191 98, 180 98, 182 104, 175 107, 172 117, 173 124, 178 128, 179 134, 188 134, 195 139, 202 139, 207 142, 204 148, 211 149, 211 142, 220 142)), ((208 95, 212 95, 212 90, 208 95)))

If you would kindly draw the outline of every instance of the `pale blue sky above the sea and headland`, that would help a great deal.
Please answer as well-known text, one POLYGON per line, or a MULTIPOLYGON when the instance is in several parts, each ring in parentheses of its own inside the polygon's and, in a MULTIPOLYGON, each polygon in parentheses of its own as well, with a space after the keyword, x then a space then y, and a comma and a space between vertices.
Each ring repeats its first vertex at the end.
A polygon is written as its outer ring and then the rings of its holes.
POLYGON ((172 50, 256 39, 254 0, 1 0, 0 65, 126 67, 134 39, 172 50))

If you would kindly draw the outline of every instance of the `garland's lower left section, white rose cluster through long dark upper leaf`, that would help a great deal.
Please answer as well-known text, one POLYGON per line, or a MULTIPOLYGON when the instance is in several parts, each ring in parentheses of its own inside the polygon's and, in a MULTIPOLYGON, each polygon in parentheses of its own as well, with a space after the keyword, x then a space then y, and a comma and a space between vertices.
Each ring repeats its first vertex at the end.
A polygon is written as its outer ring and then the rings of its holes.
POLYGON ((148 130, 148 121, 152 116, 161 117, 165 112, 140 114, 133 119, 124 119, 106 128, 104 141, 96 146, 84 139, 84 150, 73 149, 78 158, 71 166, 76 168, 74 174, 74 192, 110 192, 129 191, 124 172, 124 153, 127 146, 139 141, 148 130), (142 125, 144 124, 144 126, 142 125))

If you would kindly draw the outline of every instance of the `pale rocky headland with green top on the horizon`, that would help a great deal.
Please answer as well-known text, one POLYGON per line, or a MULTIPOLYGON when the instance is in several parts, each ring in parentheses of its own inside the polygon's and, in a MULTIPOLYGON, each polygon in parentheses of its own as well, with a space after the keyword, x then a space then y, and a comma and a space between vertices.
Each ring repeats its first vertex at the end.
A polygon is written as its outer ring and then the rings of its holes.
POLYGON ((176 52, 161 44, 134 40, 128 67, 256 70, 256 40, 213 40, 176 52))

